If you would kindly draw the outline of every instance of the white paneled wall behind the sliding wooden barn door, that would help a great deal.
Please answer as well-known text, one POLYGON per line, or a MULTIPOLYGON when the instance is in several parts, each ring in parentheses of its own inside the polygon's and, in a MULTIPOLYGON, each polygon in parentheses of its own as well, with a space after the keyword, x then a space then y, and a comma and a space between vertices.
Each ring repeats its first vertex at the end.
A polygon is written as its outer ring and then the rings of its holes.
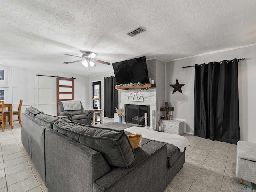
POLYGON ((14 110, 18 110, 18 104, 22 99, 22 112, 26 108, 34 106, 47 114, 57 114, 56 78, 36 76, 36 74, 76 78, 74 80, 74 100, 81 100, 84 108, 88 108, 88 77, 86 76, 12 68, 3 65, 0 65, 0 70, 4 70, 4 80, 0 80, 0 90, 4 90, 5 94, 4 102, 12 103, 14 110))

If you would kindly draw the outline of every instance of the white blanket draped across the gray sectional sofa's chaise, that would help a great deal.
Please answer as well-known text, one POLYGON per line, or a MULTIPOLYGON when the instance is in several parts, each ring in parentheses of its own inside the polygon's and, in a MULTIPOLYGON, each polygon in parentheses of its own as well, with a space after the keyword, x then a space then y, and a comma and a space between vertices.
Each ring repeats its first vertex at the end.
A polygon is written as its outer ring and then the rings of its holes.
POLYGON ((188 139, 181 135, 152 131, 140 127, 129 127, 127 129, 124 129, 124 131, 130 132, 132 134, 142 134, 142 137, 146 139, 172 144, 178 147, 180 149, 180 152, 183 152, 184 148, 190 145, 188 139))

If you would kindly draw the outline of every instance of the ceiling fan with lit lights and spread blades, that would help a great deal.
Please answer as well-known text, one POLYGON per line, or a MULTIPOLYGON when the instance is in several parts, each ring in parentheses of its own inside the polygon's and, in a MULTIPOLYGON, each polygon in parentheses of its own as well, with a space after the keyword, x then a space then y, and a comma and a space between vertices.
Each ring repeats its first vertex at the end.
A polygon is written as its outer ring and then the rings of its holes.
POLYGON ((70 54, 64 54, 64 55, 69 55, 69 56, 73 56, 73 57, 82 58, 81 60, 77 60, 77 61, 73 61, 73 62, 64 62, 64 64, 69 64, 69 63, 75 63, 75 62, 83 61, 82 64, 83 64, 85 67, 89 67, 89 65, 90 65, 91 67, 95 67, 96 64, 95 64, 94 62, 103 63, 103 64, 106 64, 106 65, 110 65, 109 62, 105 62, 105 61, 93 59, 94 57, 97 56, 97 54, 94 53, 94 52, 91 52, 91 51, 81 51, 81 53, 83 54, 82 57, 75 56, 75 55, 70 55, 70 54))

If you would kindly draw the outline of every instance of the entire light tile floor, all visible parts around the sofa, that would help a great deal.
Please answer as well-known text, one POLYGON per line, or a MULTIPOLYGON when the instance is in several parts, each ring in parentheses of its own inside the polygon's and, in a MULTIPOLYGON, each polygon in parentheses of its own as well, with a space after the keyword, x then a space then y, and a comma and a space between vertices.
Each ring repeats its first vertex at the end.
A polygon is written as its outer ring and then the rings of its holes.
MULTIPOLYGON (((185 164, 164 192, 237 192, 243 186, 236 178, 236 145, 183 136, 190 141, 185 164)), ((21 143, 18 122, 0 130, 0 145, 0 192, 48 192, 21 143)))

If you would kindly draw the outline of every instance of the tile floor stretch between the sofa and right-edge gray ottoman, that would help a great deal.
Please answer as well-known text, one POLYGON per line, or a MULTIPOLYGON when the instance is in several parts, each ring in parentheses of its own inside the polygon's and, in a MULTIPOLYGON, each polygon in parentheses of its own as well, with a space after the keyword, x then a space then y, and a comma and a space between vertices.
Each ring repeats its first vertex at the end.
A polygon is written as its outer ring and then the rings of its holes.
POLYGON ((164 192, 238 192, 236 145, 183 134, 190 141, 183 168, 164 192))

